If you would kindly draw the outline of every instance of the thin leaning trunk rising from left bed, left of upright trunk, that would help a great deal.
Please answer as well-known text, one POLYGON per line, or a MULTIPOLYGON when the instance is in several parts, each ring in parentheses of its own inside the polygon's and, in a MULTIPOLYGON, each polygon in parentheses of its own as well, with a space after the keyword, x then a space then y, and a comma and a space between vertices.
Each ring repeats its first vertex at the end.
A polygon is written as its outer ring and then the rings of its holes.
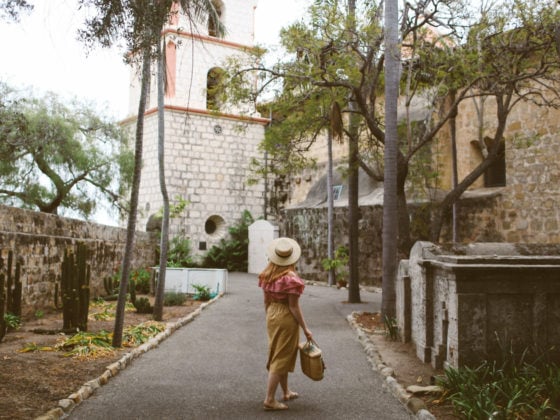
POLYGON ((115 327, 113 329, 113 347, 122 346, 122 334, 124 327, 124 309, 126 294, 128 292, 128 277, 132 263, 132 251, 134 249, 134 235, 136 232, 136 213, 138 211, 138 194, 140 191, 140 178, 142 174, 142 147, 144 140, 144 114, 146 112, 146 101, 150 89, 150 49, 144 50, 142 62, 142 81, 140 88, 140 101, 138 104, 138 116, 136 120, 136 144, 134 151, 134 174, 132 178, 132 191, 130 193, 130 212, 128 214, 128 225, 126 228, 126 244, 121 266, 121 280, 119 286, 119 297, 115 313, 115 327))

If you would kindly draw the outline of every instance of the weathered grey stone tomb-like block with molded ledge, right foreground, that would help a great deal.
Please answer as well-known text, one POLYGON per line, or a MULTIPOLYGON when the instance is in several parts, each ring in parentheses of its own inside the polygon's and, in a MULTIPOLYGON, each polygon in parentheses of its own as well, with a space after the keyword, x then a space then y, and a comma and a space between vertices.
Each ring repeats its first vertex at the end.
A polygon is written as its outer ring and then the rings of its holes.
POLYGON ((560 245, 418 242, 399 267, 401 337, 435 368, 534 348, 560 360, 559 277, 560 245))

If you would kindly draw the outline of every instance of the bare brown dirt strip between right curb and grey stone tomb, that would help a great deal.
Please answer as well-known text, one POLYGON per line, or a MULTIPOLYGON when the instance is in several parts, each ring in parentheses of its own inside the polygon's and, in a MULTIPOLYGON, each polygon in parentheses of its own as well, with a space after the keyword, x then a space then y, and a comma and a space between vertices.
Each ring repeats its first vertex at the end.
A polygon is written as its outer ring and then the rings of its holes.
MULTIPOLYGON (((392 341, 385 333, 385 325, 380 313, 356 313, 354 319, 378 351, 381 360, 395 372, 395 379, 405 389, 410 385, 433 385, 442 370, 434 369, 429 363, 423 363, 414 351, 411 343, 392 341)), ((418 396, 426 408, 437 418, 444 420, 459 419, 453 414, 450 404, 441 403, 433 396, 418 396)))

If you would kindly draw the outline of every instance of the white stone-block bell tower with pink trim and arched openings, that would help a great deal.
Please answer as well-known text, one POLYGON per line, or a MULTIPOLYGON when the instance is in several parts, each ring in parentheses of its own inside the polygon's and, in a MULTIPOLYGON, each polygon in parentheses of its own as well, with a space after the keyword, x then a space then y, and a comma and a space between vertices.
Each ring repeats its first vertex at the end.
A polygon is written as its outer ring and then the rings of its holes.
MULTIPOLYGON (((172 205, 188 202, 170 220, 171 236, 191 239, 204 251, 227 233, 248 210, 263 214, 263 184, 248 185, 249 163, 261 159, 258 144, 268 120, 247 104, 220 104, 212 89, 225 59, 243 54, 254 43, 257 0, 213 0, 226 34, 211 21, 189 21, 177 10, 162 32, 167 66, 165 106, 165 176, 172 205)), ((155 67, 155 66, 154 66, 155 67)), ((138 226, 142 229, 163 207, 158 173, 157 83, 152 72, 145 129, 138 226)), ((130 117, 134 127, 140 95, 138 72, 132 73, 130 117)))

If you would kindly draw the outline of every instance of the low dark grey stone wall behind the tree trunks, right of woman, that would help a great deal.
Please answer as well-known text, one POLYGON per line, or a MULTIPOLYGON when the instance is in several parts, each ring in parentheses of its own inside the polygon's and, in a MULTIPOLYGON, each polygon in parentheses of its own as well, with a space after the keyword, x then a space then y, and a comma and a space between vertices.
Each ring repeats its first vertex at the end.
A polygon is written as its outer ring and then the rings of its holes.
MULTIPOLYGON (((460 200, 458 220, 459 238, 462 242, 502 242, 504 237, 497 227, 501 212, 499 191, 486 191, 483 195, 467 194, 460 200)), ((427 239, 429 214, 422 205, 409 204, 412 240, 427 239)), ((382 206, 360 206, 359 221, 359 273, 360 284, 381 286, 382 278, 382 206)), ((298 269, 308 280, 327 281, 327 272, 321 261, 327 258, 327 208, 293 208, 285 210, 280 235, 296 239, 302 247, 298 269)), ((442 229, 442 240, 451 239, 451 220, 442 229)), ((334 208, 333 236, 335 249, 348 246, 348 208, 334 208)), ((403 256, 406 258, 406 256, 403 256)))

